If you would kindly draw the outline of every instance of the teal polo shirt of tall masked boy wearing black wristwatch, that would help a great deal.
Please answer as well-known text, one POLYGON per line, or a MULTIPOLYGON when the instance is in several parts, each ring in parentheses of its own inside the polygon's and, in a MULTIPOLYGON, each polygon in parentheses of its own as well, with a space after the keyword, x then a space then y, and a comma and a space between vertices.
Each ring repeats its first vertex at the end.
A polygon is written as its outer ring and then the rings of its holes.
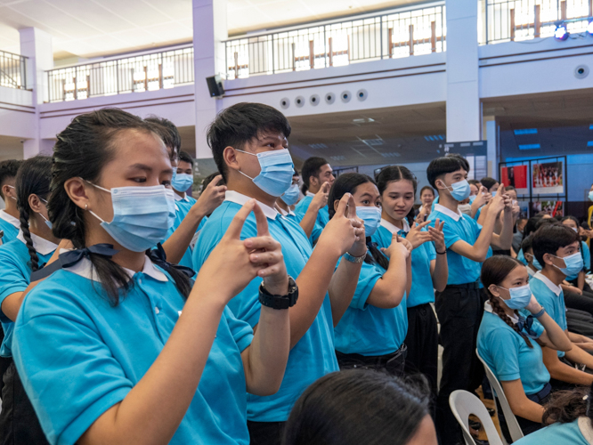
MULTIPOLYGON (((223 204, 210 215, 199 233, 198 243, 193 251, 194 270, 199 271, 208 255, 218 245, 224 233, 248 197, 234 190, 227 190, 223 204)), ((288 275, 296 279, 313 253, 305 232, 292 218, 280 215, 272 207, 259 203, 268 220, 268 229, 273 239, 280 242, 288 275)), ((251 213, 243 225, 241 239, 256 237, 256 216, 251 213)), ((261 303, 259 285, 261 278, 253 279, 235 296, 228 306, 235 316, 256 326, 259 322, 261 303)), ((248 394, 248 419, 256 422, 283 422, 288 419, 296 399, 305 388, 321 376, 337 371, 334 350, 334 326, 331 316, 329 295, 313 324, 288 355, 288 365, 280 390, 271 396, 260 397, 248 394)))

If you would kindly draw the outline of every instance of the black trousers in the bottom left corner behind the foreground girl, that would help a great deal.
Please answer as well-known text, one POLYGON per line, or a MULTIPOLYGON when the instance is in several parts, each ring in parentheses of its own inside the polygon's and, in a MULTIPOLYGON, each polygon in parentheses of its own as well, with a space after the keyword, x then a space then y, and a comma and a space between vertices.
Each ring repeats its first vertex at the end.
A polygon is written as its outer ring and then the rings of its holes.
POLYGON ((49 445, 14 362, 6 369, 3 380, 0 444, 49 445))

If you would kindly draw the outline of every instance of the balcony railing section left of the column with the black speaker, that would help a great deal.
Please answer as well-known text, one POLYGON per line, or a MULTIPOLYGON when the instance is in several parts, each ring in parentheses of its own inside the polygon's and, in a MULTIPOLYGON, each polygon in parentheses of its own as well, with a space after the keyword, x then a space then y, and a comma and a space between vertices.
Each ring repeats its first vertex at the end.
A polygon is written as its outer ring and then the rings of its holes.
POLYGON ((154 91, 193 83, 193 46, 47 71, 46 101, 154 91))

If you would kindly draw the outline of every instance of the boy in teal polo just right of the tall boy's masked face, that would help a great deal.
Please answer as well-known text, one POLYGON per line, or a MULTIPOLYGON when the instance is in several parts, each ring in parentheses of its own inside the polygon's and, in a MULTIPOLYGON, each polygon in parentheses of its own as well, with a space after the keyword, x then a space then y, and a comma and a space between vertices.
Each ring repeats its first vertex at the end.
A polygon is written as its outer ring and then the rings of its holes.
MULTIPOLYGON (((329 212, 327 201, 324 206, 320 206, 321 200, 313 200, 313 197, 318 193, 327 195, 331 184, 336 181, 336 177, 328 161, 324 158, 317 157, 305 160, 301 175, 303 176, 303 193, 305 194, 305 198, 301 199, 296 205, 295 214, 300 223, 303 223, 305 220, 305 225, 310 225, 312 221, 309 220, 312 220, 314 217, 313 233, 310 237, 311 242, 314 244, 319 239, 323 228, 329 222, 329 212)), ((305 232, 308 231, 305 229, 305 232)))

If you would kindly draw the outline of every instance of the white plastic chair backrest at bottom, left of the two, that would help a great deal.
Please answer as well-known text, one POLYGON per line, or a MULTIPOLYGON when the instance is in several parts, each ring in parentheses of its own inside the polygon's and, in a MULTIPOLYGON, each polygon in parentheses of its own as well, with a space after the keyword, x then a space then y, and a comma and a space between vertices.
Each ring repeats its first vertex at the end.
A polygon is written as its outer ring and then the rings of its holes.
POLYGON ((496 431, 496 426, 494 426, 494 422, 492 422, 490 414, 488 414, 488 409, 483 406, 482 401, 475 397, 474 394, 463 390, 453 391, 449 396, 449 405, 451 406, 451 411, 453 411, 453 416, 455 416, 459 425, 461 425, 461 431, 463 432, 463 438, 466 440, 466 445, 475 445, 474 438, 469 433, 469 423, 467 422, 467 418, 470 415, 474 415, 480 419, 490 445, 502 445, 499 432, 496 431))

